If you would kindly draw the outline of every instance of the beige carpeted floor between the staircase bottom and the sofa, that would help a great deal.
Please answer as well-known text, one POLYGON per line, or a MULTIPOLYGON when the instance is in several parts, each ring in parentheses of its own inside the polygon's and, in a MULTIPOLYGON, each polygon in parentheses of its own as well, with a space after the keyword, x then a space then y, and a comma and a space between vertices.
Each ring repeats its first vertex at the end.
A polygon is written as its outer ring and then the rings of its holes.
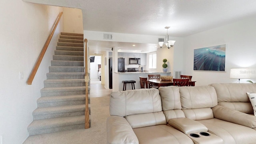
POLYGON ((29 136, 23 144, 106 144, 109 96, 91 97, 92 127, 29 136))

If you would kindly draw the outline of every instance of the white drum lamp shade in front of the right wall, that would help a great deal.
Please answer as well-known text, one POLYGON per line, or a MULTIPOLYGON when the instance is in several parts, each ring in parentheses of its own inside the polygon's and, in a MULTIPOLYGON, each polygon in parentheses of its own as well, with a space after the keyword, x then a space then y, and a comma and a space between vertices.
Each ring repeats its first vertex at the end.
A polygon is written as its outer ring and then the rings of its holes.
POLYGON ((230 78, 250 78, 249 68, 231 68, 230 78))

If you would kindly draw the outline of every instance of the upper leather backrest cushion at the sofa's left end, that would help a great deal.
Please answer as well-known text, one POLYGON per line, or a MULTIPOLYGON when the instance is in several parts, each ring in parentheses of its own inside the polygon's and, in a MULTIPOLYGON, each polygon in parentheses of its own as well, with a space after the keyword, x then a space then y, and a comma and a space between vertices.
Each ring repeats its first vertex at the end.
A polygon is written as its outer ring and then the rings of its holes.
POLYGON ((160 111, 162 102, 158 89, 126 90, 110 94, 110 115, 128 116, 160 111))

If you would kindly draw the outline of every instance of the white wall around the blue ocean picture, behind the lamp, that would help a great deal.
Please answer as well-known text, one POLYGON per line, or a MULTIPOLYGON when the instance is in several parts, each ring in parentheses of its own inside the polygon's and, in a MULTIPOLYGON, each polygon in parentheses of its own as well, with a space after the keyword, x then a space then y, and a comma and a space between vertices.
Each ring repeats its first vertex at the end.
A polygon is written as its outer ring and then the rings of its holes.
MULTIPOLYGON (((237 82, 231 79, 230 68, 255 68, 256 17, 207 30, 184 38, 184 72, 192 75, 196 86, 211 83, 237 82), (227 44, 226 72, 194 71, 194 49, 227 44)), ((251 79, 253 80, 253 79, 251 79)), ((256 80, 253 80, 256 82, 256 80)), ((246 83, 246 79, 240 82, 246 83)))

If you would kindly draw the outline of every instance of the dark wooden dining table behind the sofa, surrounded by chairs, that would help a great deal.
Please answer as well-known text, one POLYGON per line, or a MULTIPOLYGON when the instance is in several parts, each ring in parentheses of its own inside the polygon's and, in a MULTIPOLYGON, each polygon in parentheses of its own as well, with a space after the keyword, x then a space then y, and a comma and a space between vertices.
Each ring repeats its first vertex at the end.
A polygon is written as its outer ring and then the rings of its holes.
MULTIPOLYGON (((189 86, 195 86, 196 81, 188 81, 189 86)), ((153 84, 155 86, 173 86, 172 80, 161 80, 160 78, 149 78, 148 84, 153 84)))

